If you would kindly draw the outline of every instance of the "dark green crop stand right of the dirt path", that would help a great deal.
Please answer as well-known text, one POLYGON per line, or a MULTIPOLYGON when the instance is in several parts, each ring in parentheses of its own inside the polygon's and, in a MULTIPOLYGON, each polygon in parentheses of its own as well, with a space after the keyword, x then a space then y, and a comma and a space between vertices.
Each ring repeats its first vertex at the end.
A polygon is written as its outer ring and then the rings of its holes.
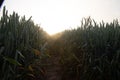
POLYGON ((83 19, 80 27, 64 31, 59 40, 63 43, 60 50, 63 80, 120 79, 117 20, 97 24, 91 18, 83 19))

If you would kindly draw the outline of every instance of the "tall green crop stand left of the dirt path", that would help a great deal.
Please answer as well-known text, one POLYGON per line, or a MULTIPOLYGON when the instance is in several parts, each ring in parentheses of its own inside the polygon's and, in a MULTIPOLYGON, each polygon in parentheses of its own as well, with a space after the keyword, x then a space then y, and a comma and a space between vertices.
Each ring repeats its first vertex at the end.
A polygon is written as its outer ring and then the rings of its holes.
POLYGON ((15 12, 8 15, 4 7, 0 20, 0 80, 26 80, 28 66, 40 56, 34 50, 42 52, 46 38, 45 31, 35 25, 31 17, 20 19, 15 12), (20 67, 23 70, 20 71, 20 67))

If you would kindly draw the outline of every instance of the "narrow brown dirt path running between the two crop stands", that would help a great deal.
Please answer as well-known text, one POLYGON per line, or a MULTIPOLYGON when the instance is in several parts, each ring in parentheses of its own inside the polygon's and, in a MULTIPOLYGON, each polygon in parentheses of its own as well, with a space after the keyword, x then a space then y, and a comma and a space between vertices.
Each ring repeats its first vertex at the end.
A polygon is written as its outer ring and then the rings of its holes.
POLYGON ((45 77, 46 80, 61 80, 61 65, 60 65, 60 45, 56 41, 50 42, 49 49, 50 57, 46 60, 45 77))

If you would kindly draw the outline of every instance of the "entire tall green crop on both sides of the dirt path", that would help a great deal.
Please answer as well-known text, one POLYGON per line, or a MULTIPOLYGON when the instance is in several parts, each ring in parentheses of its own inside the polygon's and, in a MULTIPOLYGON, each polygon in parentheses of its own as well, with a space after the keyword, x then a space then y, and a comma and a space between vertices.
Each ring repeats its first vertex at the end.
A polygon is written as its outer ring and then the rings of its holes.
POLYGON ((31 17, 3 9, 0 80, 45 80, 46 60, 59 56, 62 80, 120 80, 120 25, 83 18, 77 29, 49 36, 31 17))

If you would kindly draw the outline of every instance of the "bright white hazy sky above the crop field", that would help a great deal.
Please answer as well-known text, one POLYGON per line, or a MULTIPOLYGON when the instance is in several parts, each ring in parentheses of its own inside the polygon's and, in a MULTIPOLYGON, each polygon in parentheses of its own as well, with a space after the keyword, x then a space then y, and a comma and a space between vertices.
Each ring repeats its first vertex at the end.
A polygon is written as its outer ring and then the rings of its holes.
POLYGON ((120 20, 120 0, 5 0, 8 13, 13 11, 32 20, 49 34, 80 26, 83 17, 97 22, 120 20))

